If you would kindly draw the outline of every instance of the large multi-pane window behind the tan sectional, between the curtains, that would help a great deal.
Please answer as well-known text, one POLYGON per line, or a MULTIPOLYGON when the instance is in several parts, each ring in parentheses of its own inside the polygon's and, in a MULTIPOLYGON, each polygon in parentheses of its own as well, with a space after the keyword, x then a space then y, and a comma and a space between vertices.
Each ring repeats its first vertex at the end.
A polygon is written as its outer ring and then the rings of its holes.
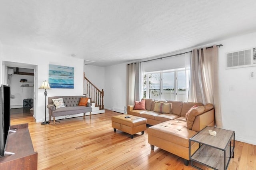
POLYGON ((143 94, 150 99, 187 101, 185 69, 144 73, 143 94))

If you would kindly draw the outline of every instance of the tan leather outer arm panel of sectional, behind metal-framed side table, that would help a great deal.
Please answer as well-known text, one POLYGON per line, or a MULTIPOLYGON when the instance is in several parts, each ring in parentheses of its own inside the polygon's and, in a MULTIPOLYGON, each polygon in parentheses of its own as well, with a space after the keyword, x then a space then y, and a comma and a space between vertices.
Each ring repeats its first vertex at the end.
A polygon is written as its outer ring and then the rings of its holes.
POLYGON ((206 111, 201 115, 196 116, 195 121, 192 126, 192 130, 199 132, 206 126, 214 127, 215 124, 215 114, 214 109, 206 111))

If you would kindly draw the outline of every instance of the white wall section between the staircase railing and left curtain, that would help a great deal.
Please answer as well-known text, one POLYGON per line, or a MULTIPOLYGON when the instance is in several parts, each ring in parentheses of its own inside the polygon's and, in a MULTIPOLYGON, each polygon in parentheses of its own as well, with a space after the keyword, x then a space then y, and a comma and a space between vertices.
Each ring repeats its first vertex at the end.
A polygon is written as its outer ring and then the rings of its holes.
POLYGON ((105 67, 105 109, 124 113, 126 84, 126 63, 105 67))

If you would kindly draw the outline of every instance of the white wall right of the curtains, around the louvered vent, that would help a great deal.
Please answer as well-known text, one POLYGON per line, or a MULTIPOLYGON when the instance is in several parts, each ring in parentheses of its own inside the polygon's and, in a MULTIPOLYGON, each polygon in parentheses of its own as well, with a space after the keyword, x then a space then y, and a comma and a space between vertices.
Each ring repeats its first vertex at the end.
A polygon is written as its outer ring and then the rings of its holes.
POLYGON ((236 140, 256 144, 256 67, 225 69, 226 53, 256 47, 256 33, 223 40, 219 53, 220 100, 223 128, 234 130, 236 140), (234 86, 234 91, 230 91, 234 86))

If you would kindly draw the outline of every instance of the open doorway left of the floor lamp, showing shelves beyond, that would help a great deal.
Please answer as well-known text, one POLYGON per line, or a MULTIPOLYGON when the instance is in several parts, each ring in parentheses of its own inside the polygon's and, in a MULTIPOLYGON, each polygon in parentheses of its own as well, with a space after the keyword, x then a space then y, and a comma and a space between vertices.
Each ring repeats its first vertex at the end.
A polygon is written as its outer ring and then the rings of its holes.
POLYGON ((11 87, 11 109, 37 118, 37 65, 3 61, 5 84, 11 87))

